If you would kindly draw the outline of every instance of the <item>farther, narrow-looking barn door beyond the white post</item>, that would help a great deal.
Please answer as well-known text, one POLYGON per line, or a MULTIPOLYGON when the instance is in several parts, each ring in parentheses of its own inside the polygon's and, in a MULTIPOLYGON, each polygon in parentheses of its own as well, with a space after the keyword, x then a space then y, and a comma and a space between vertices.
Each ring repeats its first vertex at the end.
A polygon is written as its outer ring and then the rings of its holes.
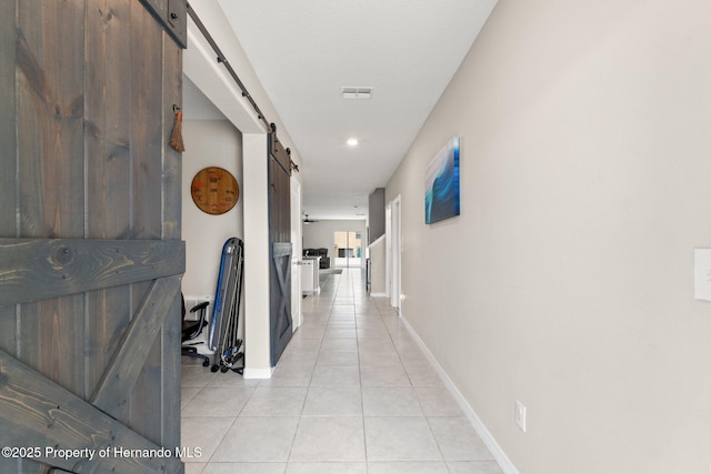
POLYGON ((291 340, 291 159, 269 135, 269 253, 271 365, 291 340))

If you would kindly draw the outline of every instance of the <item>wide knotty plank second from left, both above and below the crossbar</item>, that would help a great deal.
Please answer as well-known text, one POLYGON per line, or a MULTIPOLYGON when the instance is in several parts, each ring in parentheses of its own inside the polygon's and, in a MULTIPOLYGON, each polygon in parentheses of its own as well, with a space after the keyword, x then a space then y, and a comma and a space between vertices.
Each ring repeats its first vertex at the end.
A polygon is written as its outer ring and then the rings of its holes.
MULTIPOLYGON (((16 4, 16 235, 82 238, 84 0, 16 4)), ((83 359, 83 299, 23 304, 18 314, 17 355, 66 389, 83 390, 84 365, 66 363, 83 359)))

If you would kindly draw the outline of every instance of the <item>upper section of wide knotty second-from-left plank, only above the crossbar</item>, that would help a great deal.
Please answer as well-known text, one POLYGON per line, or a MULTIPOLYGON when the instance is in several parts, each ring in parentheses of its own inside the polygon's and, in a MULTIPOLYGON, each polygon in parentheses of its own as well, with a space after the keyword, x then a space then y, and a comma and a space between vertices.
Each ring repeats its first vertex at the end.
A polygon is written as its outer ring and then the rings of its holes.
POLYGON ((17 4, 21 235, 81 238, 84 0, 17 4))

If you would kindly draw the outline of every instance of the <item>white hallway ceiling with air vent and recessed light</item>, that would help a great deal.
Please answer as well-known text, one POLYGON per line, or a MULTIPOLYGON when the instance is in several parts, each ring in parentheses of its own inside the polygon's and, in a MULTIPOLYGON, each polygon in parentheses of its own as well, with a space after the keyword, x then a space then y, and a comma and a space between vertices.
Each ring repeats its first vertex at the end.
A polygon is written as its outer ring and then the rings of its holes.
MULTIPOLYGON (((218 3, 302 158, 303 212, 364 219, 368 194, 388 183, 495 0, 218 3), (373 91, 343 99, 343 87, 373 91)), ((197 113, 219 114, 186 82, 197 113)))

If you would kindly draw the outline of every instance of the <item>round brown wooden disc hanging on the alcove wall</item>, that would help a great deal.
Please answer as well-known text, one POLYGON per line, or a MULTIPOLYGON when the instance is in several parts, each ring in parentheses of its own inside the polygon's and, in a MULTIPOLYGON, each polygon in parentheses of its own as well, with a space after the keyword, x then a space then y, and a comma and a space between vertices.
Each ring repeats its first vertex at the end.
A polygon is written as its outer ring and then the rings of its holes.
POLYGON ((234 177, 218 167, 208 167, 192 179, 190 185, 192 201, 208 214, 224 214, 234 208, 240 198, 240 186, 234 177))

